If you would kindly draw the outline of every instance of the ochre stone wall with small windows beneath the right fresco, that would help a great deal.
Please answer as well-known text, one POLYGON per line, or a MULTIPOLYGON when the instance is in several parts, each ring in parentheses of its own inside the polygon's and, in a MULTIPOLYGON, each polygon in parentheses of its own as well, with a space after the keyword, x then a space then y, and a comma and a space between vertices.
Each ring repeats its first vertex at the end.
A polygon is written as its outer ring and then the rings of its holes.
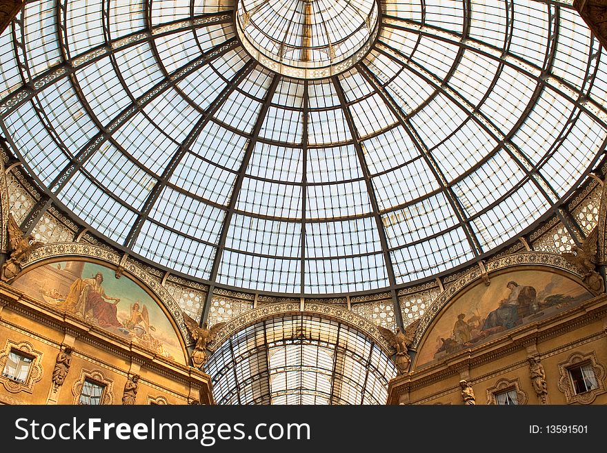
POLYGON ((535 355, 546 372, 548 404, 607 404, 607 295, 398 376, 390 383, 388 403, 461 405, 459 381, 466 379, 477 405, 489 403, 488 396, 500 381, 517 387, 525 404, 539 404, 529 376, 528 357, 535 355), (597 363, 601 389, 594 392, 592 401, 576 401, 563 389, 569 382, 564 373, 576 356, 597 363))

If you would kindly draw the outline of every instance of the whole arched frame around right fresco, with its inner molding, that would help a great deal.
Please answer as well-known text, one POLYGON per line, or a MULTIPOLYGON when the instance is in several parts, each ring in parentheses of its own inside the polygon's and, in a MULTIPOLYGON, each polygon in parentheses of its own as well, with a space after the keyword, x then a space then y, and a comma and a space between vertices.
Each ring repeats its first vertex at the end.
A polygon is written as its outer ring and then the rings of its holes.
MULTIPOLYGON (((582 272, 575 265, 569 263, 559 254, 528 252, 505 256, 504 258, 488 263, 486 266, 490 285, 494 285, 496 278, 514 273, 514 272, 546 272, 562 276, 564 279, 573 281, 581 289, 588 292, 588 299, 596 295, 582 281, 582 272)), ((426 343, 431 342, 430 334, 434 331, 438 323, 444 315, 448 314, 451 308, 455 308, 457 303, 461 301, 466 293, 477 287, 485 288, 484 280, 478 271, 469 272, 442 292, 434 303, 428 308, 419 323, 419 328, 412 343, 412 348, 417 352, 421 352, 426 348, 426 343)), ((497 302, 495 303, 497 308, 497 302)), ((515 326, 517 328, 518 326, 515 326)), ((504 331, 508 332, 510 329, 504 331)), ((506 333, 504 333, 506 334, 506 333)), ((417 366, 424 365, 421 363, 420 354, 416 354, 412 364, 412 369, 417 366)))

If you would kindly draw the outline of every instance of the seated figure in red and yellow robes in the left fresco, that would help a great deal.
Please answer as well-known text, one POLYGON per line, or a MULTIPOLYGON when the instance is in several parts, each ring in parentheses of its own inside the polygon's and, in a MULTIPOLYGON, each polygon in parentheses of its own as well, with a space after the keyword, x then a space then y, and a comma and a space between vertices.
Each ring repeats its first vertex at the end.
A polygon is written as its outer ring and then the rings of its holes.
POLYGON ((92 279, 74 280, 66 297, 66 310, 82 314, 85 318, 92 316, 102 328, 122 327, 122 323, 117 318, 116 307, 120 299, 108 296, 101 283, 103 283, 101 272, 97 272, 92 279))

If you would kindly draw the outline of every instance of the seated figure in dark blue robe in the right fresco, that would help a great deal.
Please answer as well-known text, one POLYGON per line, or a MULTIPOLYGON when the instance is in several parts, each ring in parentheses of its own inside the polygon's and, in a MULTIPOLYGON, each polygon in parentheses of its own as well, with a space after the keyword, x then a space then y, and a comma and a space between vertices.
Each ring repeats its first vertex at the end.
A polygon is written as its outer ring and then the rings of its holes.
POLYGON ((515 281, 509 281, 506 286, 510 295, 507 299, 502 299, 499 307, 487 315, 482 331, 511 329, 529 314, 530 305, 535 302, 535 288, 521 286, 515 281))

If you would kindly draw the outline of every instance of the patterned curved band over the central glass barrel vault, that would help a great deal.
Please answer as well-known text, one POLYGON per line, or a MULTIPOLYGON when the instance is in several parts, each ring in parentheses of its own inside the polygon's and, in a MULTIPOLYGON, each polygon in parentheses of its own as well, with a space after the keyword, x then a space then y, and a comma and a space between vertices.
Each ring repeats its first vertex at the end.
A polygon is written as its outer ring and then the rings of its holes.
POLYGON ((375 342, 388 356, 395 354, 395 349, 390 346, 388 341, 384 339, 381 332, 377 328, 377 325, 367 321, 361 316, 349 312, 344 308, 339 308, 335 305, 326 305, 321 303, 304 303, 304 310, 300 310, 299 301, 292 303, 275 303, 272 305, 264 305, 261 308, 255 308, 241 314, 232 321, 226 323, 218 332, 215 339, 208 343, 207 348, 211 352, 215 352, 217 348, 230 336, 237 334, 249 325, 255 324, 263 319, 272 318, 275 316, 281 316, 285 314, 301 314, 308 316, 320 316, 323 318, 333 319, 341 323, 350 325, 351 327, 359 330, 362 334, 366 335, 369 339, 375 342))

